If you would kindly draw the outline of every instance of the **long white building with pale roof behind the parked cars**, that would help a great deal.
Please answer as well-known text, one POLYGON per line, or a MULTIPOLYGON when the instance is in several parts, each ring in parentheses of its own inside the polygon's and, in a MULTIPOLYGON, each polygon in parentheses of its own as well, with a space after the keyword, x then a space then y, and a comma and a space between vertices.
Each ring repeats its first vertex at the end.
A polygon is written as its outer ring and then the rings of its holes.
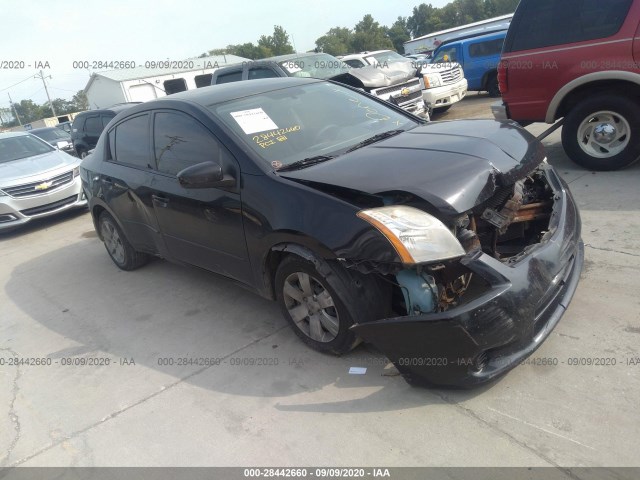
POLYGON ((250 61, 236 55, 217 55, 181 61, 145 62, 145 65, 136 68, 93 73, 84 91, 91 110, 118 103, 146 102, 172 93, 206 87, 211 84, 211 74, 218 68, 250 61))

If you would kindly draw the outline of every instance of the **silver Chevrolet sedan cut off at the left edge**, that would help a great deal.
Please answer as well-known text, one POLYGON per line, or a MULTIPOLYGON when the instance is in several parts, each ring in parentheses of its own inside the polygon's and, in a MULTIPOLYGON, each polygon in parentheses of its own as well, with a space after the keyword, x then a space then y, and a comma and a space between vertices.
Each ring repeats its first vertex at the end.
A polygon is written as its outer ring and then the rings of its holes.
POLYGON ((80 162, 35 135, 0 133, 0 231, 86 206, 80 162))

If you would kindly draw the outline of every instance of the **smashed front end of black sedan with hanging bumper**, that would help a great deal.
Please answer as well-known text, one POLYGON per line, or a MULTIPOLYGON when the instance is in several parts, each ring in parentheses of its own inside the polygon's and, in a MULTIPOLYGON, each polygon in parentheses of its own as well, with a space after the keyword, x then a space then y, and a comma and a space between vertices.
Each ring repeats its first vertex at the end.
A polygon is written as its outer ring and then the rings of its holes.
MULTIPOLYGON (((367 220, 391 237, 388 222, 367 220)), ((560 320, 582 270, 580 216, 566 185, 542 163, 520 180, 498 179, 488 199, 440 220, 447 232, 428 235, 448 246, 442 251, 407 261, 413 254, 407 236, 403 245, 394 243, 401 264, 347 265, 394 285, 396 316, 352 329, 410 383, 473 386, 517 366, 560 320)))

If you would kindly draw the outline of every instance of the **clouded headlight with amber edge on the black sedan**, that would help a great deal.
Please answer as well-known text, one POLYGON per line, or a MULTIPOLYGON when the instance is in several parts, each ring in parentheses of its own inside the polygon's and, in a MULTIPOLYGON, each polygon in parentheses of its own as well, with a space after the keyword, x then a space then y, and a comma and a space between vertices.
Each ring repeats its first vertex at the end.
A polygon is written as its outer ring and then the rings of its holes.
POLYGON ((462 257, 462 245, 437 218, 404 205, 358 212, 391 242, 402 263, 426 263, 462 257))

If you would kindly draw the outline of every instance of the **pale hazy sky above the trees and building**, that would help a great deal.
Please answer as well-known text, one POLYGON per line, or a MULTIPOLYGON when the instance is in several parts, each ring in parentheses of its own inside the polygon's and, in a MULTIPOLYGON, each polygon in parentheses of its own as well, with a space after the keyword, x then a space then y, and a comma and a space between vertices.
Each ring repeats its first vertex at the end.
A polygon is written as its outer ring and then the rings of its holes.
POLYGON ((253 42, 281 25, 300 52, 332 27, 353 28, 366 14, 390 26, 413 7, 450 0, 0 0, 0 107, 31 99, 71 99, 89 81, 91 71, 74 61, 184 60, 229 44, 253 42), (13 62, 24 68, 4 68, 13 62), (15 85, 18 84, 18 85, 15 85))

